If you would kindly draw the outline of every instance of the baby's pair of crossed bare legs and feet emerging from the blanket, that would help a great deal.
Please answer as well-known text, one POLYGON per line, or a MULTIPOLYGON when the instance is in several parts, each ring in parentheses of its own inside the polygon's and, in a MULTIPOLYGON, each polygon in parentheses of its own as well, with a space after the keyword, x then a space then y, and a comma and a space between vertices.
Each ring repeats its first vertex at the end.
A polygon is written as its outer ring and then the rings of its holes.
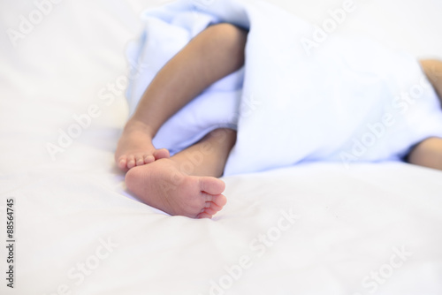
POLYGON ((115 160, 126 186, 146 204, 173 216, 211 218, 225 206, 225 162, 236 132, 218 129, 177 155, 152 139, 164 122, 211 84, 244 64, 248 32, 210 26, 164 65, 141 97, 118 141, 115 160))

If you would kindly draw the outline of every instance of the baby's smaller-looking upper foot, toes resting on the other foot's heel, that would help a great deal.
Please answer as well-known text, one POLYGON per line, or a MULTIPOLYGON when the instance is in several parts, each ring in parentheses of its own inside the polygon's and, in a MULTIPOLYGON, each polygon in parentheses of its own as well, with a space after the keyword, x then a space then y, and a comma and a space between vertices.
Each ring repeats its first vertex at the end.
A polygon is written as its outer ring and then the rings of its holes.
POLYGON ((115 162, 120 170, 126 171, 168 157, 167 149, 156 149, 152 145, 152 138, 145 125, 138 122, 127 123, 115 152, 115 162))

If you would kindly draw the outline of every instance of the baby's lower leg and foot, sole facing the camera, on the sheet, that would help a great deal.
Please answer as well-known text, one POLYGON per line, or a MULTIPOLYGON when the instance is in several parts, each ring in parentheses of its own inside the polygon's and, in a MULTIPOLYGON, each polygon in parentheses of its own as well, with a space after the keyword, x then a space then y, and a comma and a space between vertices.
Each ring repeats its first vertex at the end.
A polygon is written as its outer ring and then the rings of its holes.
POLYGON ((139 200, 172 216, 211 218, 225 206, 225 162, 236 132, 217 129, 171 158, 129 170, 126 186, 139 200))

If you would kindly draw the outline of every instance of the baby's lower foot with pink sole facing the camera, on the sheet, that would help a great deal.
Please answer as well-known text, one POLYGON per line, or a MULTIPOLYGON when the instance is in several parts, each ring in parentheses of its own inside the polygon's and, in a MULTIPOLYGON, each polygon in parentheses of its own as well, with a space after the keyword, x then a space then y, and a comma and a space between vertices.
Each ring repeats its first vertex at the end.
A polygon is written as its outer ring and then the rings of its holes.
POLYGON ((171 216, 211 218, 227 202, 222 180, 184 174, 172 159, 129 170, 126 186, 141 201, 171 216))

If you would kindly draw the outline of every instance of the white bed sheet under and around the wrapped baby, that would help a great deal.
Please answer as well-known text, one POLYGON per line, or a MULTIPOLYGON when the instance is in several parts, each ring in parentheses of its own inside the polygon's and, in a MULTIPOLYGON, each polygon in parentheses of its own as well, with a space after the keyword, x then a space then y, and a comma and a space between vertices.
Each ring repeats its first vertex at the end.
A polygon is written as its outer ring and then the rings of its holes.
MULTIPOLYGON (((301 163, 231 176, 212 220, 134 200, 113 162, 125 50, 141 11, 168 2, 0 4, 0 293, 442 294, 438 170, 301 163)), ((346 3, 270 2, 319 26, 346 3)), ((332 34, 442 58, 441 2, 354 5, 332 34)))

